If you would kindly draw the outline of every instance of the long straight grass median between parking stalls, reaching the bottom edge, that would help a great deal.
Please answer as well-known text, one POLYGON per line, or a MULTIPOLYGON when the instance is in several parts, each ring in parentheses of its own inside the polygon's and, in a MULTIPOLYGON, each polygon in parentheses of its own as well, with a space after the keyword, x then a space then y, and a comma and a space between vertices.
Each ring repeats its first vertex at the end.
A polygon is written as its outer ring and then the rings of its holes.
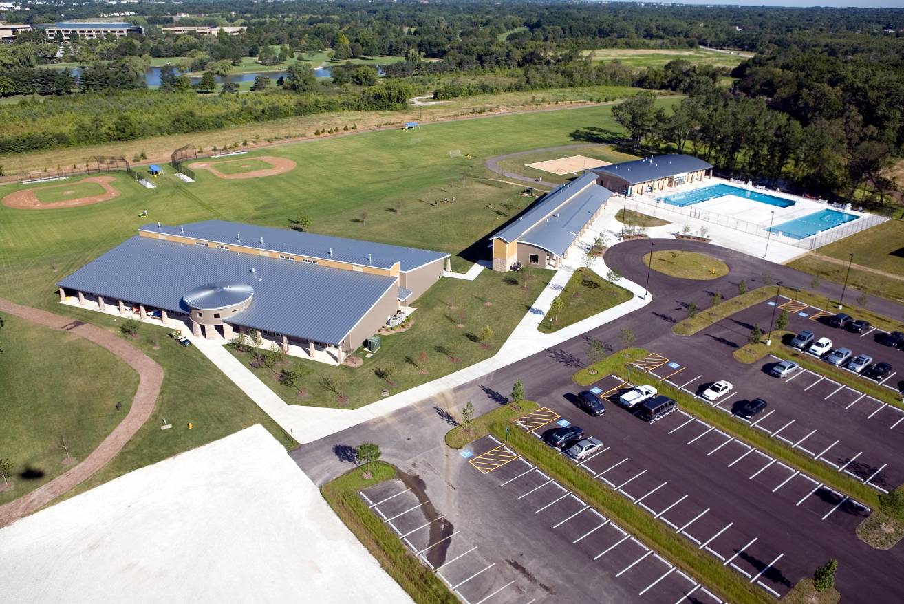
MULTIPOLYGON (((497 439, 506 438, 507 425, 504 421, 492 424, 491 431, 497 439)), ((774 601, 737 572, 727 569, 718 559, 701 552, 688 539, 670 531, 665 524, 657 522, 652 515, 632 505, 625 497, 556 455, 553 449, 540 439, 521 429, 512 429, 508 434, 508 445, 523 458, 541 467, 562 486, 593 505, 600 514, 607 516, 621 528, 632 533, 636 539, 664 555, 685 574, 715 591, 720 598, 735 604, 774 601)))

